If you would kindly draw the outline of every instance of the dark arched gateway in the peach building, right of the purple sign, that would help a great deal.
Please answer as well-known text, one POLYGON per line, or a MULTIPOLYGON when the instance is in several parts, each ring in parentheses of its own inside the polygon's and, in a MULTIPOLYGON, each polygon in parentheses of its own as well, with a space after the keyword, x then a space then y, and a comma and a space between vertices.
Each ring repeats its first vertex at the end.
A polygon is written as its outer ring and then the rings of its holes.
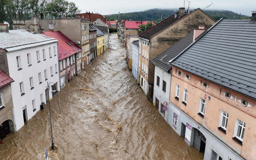
POLYGON ((199 151, 204 152, 206 145, 206 138, 195 128, 193 146, 199 151))

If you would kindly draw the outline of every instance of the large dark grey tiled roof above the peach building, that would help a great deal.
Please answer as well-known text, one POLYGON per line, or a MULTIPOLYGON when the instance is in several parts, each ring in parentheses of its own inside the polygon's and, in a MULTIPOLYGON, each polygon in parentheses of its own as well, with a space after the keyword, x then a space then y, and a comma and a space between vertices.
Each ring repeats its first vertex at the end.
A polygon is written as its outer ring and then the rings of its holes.
POLYGON ((171 64, 256 99, 256 23, 221 19, 171 64))

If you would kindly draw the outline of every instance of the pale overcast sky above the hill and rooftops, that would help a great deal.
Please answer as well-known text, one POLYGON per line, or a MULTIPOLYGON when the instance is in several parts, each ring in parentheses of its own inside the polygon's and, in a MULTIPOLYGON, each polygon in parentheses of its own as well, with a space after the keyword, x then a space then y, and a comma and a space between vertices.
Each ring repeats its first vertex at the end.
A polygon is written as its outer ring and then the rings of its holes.
MULTIPOLYGON (((179 8, 184 6, 184 0, 68 0, 75 2, 79 6, 82 13, 94 12, 102 15, 118 13, 127 13, 135 11, 144 11, 153 8, 179 8)), ((190 8, 205 8, 213 2, 212 6, 207 9, 223 9, 251 16, 251 11, 256 10, 255 0, 188 0, 190 8)), ((185 0, 185 8, 187 9, 188 2, 185 0)))

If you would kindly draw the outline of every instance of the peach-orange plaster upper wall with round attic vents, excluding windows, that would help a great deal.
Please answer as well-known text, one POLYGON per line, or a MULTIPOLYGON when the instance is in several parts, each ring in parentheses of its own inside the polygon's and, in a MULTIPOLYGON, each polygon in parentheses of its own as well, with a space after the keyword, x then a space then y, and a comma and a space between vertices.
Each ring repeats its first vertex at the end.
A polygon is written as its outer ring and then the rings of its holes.
POLYGON ((224 144, 227 144, 237 154, 245 159, 254 159, 256 157, 254 149, 256 139, 252 137, 256 137, 255 100, 183 70, 180 70, 181 76, 179 76, 179 70, 173 66, 170 101, 189 117, 193 117, 194 121, 220 139, 224 144), (184 75, 186 74, 190 76, 190 79, 185 78, 184 75), (203 87, 204 82, 207 83, 206 88, 203 87), (179 100, 174 98, 176 84, 180 85, 179 100), (184 88, 188 90, 186 105, 182 103, 184 88), (226 91, 230 92, 230 98, 225 97, 226 91), (200 111, 200 98, 206 101, 204 118, 198 115, 200 111), (247 107, 242 106, 242 99, 248 101, 247 107), (221 110, 229 114, 226 134, 218 129, 221 125, 221 110), (237 120, 246 123, 242 145, 232 139, 236 134, 237 120))

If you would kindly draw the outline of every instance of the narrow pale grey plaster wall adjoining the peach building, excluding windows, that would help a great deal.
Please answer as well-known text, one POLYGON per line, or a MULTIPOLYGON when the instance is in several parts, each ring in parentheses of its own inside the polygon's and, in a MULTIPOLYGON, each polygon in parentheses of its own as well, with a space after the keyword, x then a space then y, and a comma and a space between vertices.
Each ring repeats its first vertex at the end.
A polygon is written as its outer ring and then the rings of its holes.
POLYGON ((154 77, 154 94, 153 94, 153 101, 155 102, 156 106, 156 98, 159 100, 159 108, 158 112, 164 117, 164 119, 168 120, 168 110, 170 109, 167 107, 167 111, 165 111, 165 115, 161 113, 161 104, 164 102, 169 103, 170 99, 170 88, 171 88, 171 73, 166 72, 159 66, 155 65, 155 77, 154 77), (157 76, 160 78, 159 86, 157 85, 157 76), (163 91, 163 80, 166 82, 166 91, 163 91))

